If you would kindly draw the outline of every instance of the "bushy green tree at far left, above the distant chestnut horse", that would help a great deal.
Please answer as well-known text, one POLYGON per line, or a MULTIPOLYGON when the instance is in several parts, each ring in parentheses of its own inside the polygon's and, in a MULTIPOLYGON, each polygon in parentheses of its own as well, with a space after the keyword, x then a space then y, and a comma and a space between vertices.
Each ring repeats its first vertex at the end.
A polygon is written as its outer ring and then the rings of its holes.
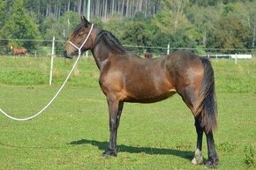
POLYGON ((11 41, 11 44, 28 49, 36 48, 37 43, 33 40, 41 39, 38 25, 34 18, 26 13, 23 0, 16 0, 11 4, 10 16, 6 18, 0 31, 1 37, 5 39, 23 39, 32 41, 11 41))

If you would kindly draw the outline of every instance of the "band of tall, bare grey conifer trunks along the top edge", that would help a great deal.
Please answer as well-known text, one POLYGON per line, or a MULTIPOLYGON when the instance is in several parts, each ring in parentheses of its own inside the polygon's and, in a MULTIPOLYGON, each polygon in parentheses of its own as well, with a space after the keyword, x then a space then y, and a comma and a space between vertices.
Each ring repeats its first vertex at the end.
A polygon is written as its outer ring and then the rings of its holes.
POLYGON ((114 14, 133 17, 137 11, 150 16, 161 9, 159 0, 24 0, 24 4, 30 13, 35 12, 40 19, 49 15, 59 18, 67 11, 86 15, 89 1, 91 14, 100 18, 109 18, 114 14))

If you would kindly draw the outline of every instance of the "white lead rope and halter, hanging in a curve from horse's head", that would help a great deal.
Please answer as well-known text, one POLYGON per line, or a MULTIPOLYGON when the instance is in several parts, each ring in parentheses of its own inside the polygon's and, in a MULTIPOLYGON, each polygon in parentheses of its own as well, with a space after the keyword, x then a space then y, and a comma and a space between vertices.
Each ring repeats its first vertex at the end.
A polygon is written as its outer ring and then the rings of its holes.
POLYGON ((62 91, 62 89, 64 88, 64 85, 66 84, 66 82, 68 81, 68 79, 71 77, 72 71, 75 69, 75 66, 76 66, 77 63, 79 62, 79 58, 80 58, 80 55, 81 55, 81 48, 83 48, 83 46, 84 46, 85 43, 87 42, 87 39, 89 38, 90 34, 92 33, 93 27, 94 27, 94 24, 92 24, 91 29, 90 29, 90 32, 87 34, 87 38, 86 38, 86 40, 83 42, 83 44, 80 46, 80 48, 78 48, 78 47, 77 47, 76 45, 74 45, 71 41, 69 41, 69 43, 71 43, 74 48, 77 48, 77 49, 79 50, 79 56, 78 56, 76 62, 74 63, 74 65, 73 65, 73 67, 72 67, 72 70, 71 70, 70 73, 68 74, 67 78, 64 80, 63 85, 61 85, 61 87, 59 88, 59 90, 56 92, 55 96, 49 101, 49 103, 48 103, 45 107, 43 107, 43 108, 41 109, 41 111, 39 111, 39 112, 38 112, 37 114, 35 114, 35 115, 32 115, 32 116, 30 116, 30 117, 26 117, 26 118, 16 118, 16 117, 13 117, 13 116, 11 116, 11 115, 8 115, 8 114, 6 114, 6 113, 4 112, 4 110, 3 110, 2 108, 0 108, 0 112, 1 112, 2 114, 4 114, 5 116, 7 116, 8 118, 14 120, 14 121, 28 121, 28 120, 31 120, 31 119, 33 119, 34 117, 38 116, 38 115, 41 115, 41 113, 42 113, 43 111, 45 111, 45 110, 49 107, 49 105, 56 99, 57 95, 62 91))

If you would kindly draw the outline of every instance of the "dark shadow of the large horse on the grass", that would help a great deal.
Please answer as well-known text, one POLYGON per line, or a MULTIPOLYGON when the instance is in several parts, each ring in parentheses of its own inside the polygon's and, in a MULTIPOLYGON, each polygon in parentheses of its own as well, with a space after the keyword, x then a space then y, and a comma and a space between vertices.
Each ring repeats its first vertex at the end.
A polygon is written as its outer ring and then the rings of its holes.
MULTIPOLYGON (((105 151, 108 146, 108 142, 100 142, 95 140, 80 139, 78 141, 72 141, 69 144, 78 145, 78 144, 92 144, 97 146, 99 150, 105 151)), ((140 153, 144 152, 147 154, 162 154, 162 155, 174 155, 183 159, 191 160, 193 158, 193 152, 174 150, 174 149, 165 149, 165 148, 151 148, 151 147, 138 147, 138 146, 128 146, 128 145, 117 145, 118 152, 129 152, 129 153, 140 153)))

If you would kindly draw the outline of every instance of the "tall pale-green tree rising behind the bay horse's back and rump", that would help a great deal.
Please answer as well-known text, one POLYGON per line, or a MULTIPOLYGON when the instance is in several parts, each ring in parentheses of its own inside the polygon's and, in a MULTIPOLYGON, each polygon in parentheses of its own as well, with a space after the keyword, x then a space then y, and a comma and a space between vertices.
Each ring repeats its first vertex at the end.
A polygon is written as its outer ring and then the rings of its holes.
POLYGON ((199 33, 185 15, 188 4, 187 0, 162 1, 163 10, 159 11, 152 19, 152 24, 156 26, 153 33, 155 45, 167 47, 170 44, 171 48, 196 47, 199 33))

